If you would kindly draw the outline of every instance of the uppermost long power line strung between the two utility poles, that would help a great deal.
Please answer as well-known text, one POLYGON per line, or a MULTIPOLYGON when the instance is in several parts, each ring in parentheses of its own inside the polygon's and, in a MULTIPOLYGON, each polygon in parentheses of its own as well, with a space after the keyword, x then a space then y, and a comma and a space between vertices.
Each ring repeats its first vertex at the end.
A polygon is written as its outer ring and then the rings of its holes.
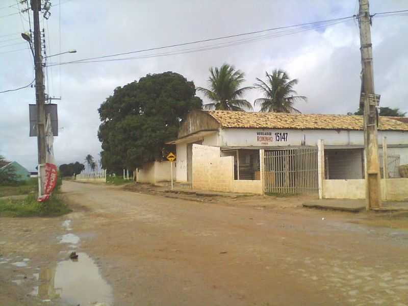
MULTIPOLYGON (((307 25, 313 26, 313 25, 316 25, 316 24, 319 24, 319 23, 346 20, 346 19, 351 19, 353 17, 354 16, 348 16, 348 17, 342 17, 342 18, 334 18, 334 19, 327 19, 327 20, 321 20, 321 21, 299 23, 299 24, 294 24, 294 25, 285 25, 285 26, 282 26, 282 27, 276 27, 276 28, 271 28, 271 29, 265 29, 265 30, 259 30, 259 31, 241 33, 241 34, 234 34, 234 35, 227 35, 227 36, 221 36, 221 37, 216 37, 216 38, 195 40, 195 41, 190 41, 190 42, 184 42, 184 43, 178 43, 178 44, 172 44, 172 45, 166 45, 166 46, 154 47, 154 48, 148 48, 148 49, 142 49, 142 50, 135 50, 135 51, 112 54, 112 55, 92 57, 92 58, 86 58, 86 59, 82 59, 82 60, 75 60, 75 61, 66 62, 66 63, 82 62, 82 61, 103 59, 103 58, 115 57, 115 56, 121 56, 121 55, 129 55, 129 54, 135 54, 135 53, 141 53, 141 52, 147 52, 147 51, 153 51, 153 50, 160 50, 160 49, 171 48, 171 47, 185 46, 185 45, 197 44, 197 43, 202 43, 202 42, 209 42, 209 41, 216 41, 216 40, 227 39, 227 38, 246 36, 246 35, 251 35, 251 34, 259 34, 259 33, 265 33, 265 32, 276 31, 276 30, 284 30, 284 29, 290 29, 290 28, 296 28, 296 27, 304 27, 304 26, 307 26, 307 25)), ((61 65, 66 64, 66 63, 61 63, 61 65)))

